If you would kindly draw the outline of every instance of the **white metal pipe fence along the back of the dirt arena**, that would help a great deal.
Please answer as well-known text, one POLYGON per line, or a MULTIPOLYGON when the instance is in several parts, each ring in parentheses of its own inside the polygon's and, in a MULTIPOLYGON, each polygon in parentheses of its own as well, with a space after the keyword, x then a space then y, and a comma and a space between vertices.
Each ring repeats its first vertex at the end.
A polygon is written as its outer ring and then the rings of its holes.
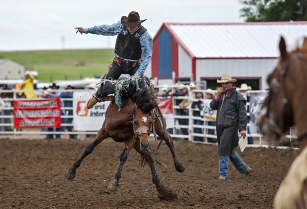
MULTIPOLYGON (((161 89, 165 86, 155 86, 158 89, 161 89)), ((176 86, 170 86, 172 90, 176 88, 176 86)), ((72 89, 75 91, 86 91, 85 89, 72 89)), ((70 90, 64 90, 64 89, 58 89, 59 92, 65 92, 65 91, 71 91, 70 90)), ((13 126, 13 106, 12 102, 14 100, 21 100, 20 98, 17 98, 17 94, 19 92, 25 92, 21 90, 0 90, 1 92, 13 92, 13 98, 0 98, 0 134, 1 135, 41 135, 42 138, 44 138, 45 134, 49 134, 50 132, 47 130, 44 130, 43 128, 24 128, 24 129, 17 129, 13 126)), ((43 93, 44 90, 35 90, 35 93, 37 95, 40 95, 43 93)), ((172 112, 173 112, 173 120, 171 122, 168 122, 167 125, 171 126, 172 128, 168 128, 172 138, 178 139, 178 140, 189 140, 191 142, 197 142, 197 143, 209 143, 212 144, 212 142, 209 142, 208 139, 216 139, 215 135, 215 125, 210 125, 210 120, 205 119, 204 117, 200 116, 193 116, 193 111, 198 111, 198 109, 192 108, 192 103, 195 101, 198 101, 194 97, 196 92, 202 92, 203 95, 206 95, 208 92, 207 90, 188 90, 188 96, 171 96, 168 98, 172 99, 172 112), (186 108, 181 108, 178 105, 178 100, 188 100, 189 105, 186 108), (185 109, 187 114, 182 115, 179 112, 182 112, 182 110, 185 109), (182 120, 185 120, 185 123, 180 123, 182 120), (201 121, 203 123, 195 123, 196 121, 201 121), (213 130, 213 134, 210 133, 209 130, 213 130), (201 139, 201 140, 200 140, 201 139)), ((266 92, 266 91, 249 91, 248 93, 258 93, 258 92, 266 92)), ((22 98, 24 99, 24 98, 22 98)), ((42 98, 43 99, 43 98, 42 98)), ((60 98, 61 100, 71 100, 72 98, 60 98)), ((250 107, 250 103, 247 103, 247 108, 250 107)), ((62 110, 64 110, 66 113, 68 110, 72 110, 72 107, 61 107, 62 110)), ((61 115, 61 119, 65 121, 65 119, 72 118, 73 116, 69 115, 61 115)), ((248 112, 248 117, 250 117, 250 113, 248 112)), ((62 123, 62 127, 67 126, 73 126, 73 124, 68 123, 62 123)), ((267 146, 268 142, 264 141, 262 138, 262 135, 259 133, 258 127, 253 125, 251 123, 248 123, 249 129, 253 129, 252 132, 248 132, 247 136, 252 137, 254 143, 249 144, 248 146, 267 146)), ((212 132, 212 131, 211 131, 212 132)), ((53 131, 52 134, 76 134, 78 136, 83 135, 89 136, 91 134, 96 134, 97 131, 67 131, 62 128, 61 131, 53 131)), ((66 135, 63 136, 65 138, 66 135)), ((81 137, 81 136, 80 136, 81 137)), ((80 138, 78 137, 78 138, 80 138)), ((81 138, 82 138, 81 137, 81 138)), ((286 140, 288 140, 290 143, 293 141, 293 139, 296 138, 293 129, 289 131, 289 134, 285 136, 286 140)), ((284 140, 284 139, 282 139, 284 140)), ((213 144, 215 144, 213 142, 213 144)), ((282 146, 282 144, 279 144, 282 146)), ((278 146, 278 144, 276 144, 278 146)))

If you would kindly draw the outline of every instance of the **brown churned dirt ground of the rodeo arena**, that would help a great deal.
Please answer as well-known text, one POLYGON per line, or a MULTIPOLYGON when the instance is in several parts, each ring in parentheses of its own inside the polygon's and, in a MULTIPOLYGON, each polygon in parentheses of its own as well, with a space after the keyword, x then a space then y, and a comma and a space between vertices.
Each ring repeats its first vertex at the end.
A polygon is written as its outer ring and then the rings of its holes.
MULTIPOLYGON (((177 194, 174 201, 159 200, 148 166, 139 165, 131 151, 117 192, 106 184, 113 178, 124 146, 106 139, 77 169, 73 180, 65 171, 81 156, 92 139, 45 140, 0 138, 1 209, 271 209, 274 195, 297 150, 246 148, 237 150, 253 168, 242 179, 229 166, 229 178, 219 181, 216 146, 174 141, 183 173, 173 166, 163 143, 157 160, 168 167, 166 188, 177 194)), ((151 141, 152 150, 157 142, 151 141)), ((165 168, 155 164, 162 179, 165 168)))

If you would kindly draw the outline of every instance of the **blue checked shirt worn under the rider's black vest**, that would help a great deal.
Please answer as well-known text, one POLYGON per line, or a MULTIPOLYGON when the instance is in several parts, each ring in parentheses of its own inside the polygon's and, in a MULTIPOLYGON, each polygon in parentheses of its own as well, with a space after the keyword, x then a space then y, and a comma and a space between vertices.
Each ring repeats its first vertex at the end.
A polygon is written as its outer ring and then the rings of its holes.
MULTIPOLYGON (((117 23, 114 23, 112 25, 100 25, 100 26, 94 26, 92 28, 83 28, 83 33, 98 34, 102 36, 115 36, 115 35, 118 35, 123 30, 123 27, 125 26, 122 25, 120 21, 118 21, 117 23)), ((144 75, 145 70, 149 62, 151 61, 152 55, 153 55, 153 38, 148 33, 148 31, 145 31, 145 33, 142 34, 142 36, 140 37, 140 44, 141 44, 141 49, 143 53, 143 58, 141 60, 138 71, 134 74, 135 76, 138 76, 138 77, 141 77, 144 75)), ((137 61, 137 60, 125 59, 124 57, 120 57, 115 52, 114 52, 114 56, 119 57, 120 59, 124 59, 126 61, 130 61, 130 62, 137 61)))

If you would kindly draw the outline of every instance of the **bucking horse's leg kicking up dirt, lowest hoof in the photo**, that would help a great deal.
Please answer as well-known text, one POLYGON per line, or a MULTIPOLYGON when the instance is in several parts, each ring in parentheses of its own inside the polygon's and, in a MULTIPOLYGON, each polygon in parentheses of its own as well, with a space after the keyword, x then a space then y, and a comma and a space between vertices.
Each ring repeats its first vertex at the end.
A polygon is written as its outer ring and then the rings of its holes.
POLYGON ((149 150, 142 152, 140 150, 139 143, 135 143, 134 149, 142 155, 142 157, 147 161, 147 163, 149 164, 149 166, 151 168, 152 176, 153 176, 153 183, 155 184, 156 190, 158 192, 158 198, 164 199, 164 200, 177 199, 177 195, 174 194, 172 191, 166 189, 163 186, 163 184, 160 182, 160 179, 158 178, 158 175, 155 171, 155 167, 154 167, 154 164, 153 164, 153 157, 152 157, 151 152, 149 150))

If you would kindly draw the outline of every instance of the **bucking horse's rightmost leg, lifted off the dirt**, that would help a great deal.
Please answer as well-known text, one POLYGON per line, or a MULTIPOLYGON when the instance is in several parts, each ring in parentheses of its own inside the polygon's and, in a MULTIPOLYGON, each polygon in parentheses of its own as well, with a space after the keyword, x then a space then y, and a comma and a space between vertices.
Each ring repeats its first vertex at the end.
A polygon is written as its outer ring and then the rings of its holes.
POLYGON ((183 172, 185 167, 179 161, 179 159, 176 156, 175 149, 174 149, 174 144, 173 144, 173 142, 171 140, 171 137, 170 137, 168 131, 166 130, 165 119, 164 119, 164 117, 162 115, 160 115, 159 118, 161 119, 161 123, 162 124, 160 123, 160 120, 156 119, 154 121, 154 128, 155 128, 156 134, 158 136, 160 136, 165 141, 165 143, 167 144, 167 146, 168 146, 168 148, 169 148, 169 150, 170 150, 170 152, 172 154, 176 170, 179 171, 179 172, 183 172))

